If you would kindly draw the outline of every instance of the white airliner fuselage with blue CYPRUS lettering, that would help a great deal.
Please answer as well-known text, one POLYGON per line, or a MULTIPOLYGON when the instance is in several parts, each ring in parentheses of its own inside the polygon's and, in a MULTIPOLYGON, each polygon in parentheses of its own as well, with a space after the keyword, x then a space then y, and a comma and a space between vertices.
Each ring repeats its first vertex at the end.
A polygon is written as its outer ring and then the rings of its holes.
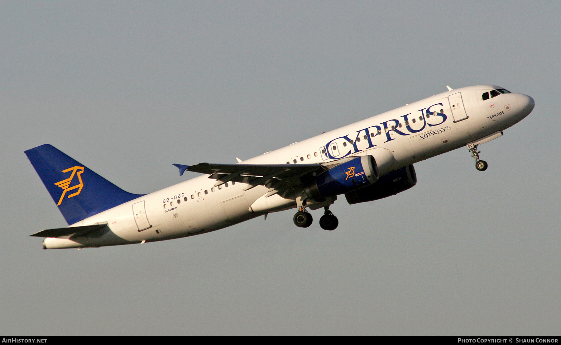
MULTIPOLYGON (((243 164, 325 163, 348 156, 373 155, 381 176, 505 130, 525 118, 534 107, 531 97, 522 94, 501 94, 482 100, 484 92, 497 88, 483 85, 443 92, 264 153, 243 164)), ((258 207, 254 203, 268 188, 257 186, 243 191, 247 186, 243 183, 213 187, 215 183, 216 180, 203 175, 143 195, 71 225, 107 223, 111 231, 72 240, 47 238, 44 248, 167 240, 222 229, 264 213, 296 207, 292 201, 280 202, 282 205, 276 208, 267 209, 263 203, 258 207)), ((278 195, 271 198, 282 199, 278 195)))

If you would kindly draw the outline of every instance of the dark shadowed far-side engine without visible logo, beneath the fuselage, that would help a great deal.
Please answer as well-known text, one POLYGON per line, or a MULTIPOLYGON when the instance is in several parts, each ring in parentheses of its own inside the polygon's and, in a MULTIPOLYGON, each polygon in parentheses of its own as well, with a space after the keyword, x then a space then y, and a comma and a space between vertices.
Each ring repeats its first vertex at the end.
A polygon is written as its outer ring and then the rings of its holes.
POLYGON ((374 201, 401 193, 416 184, 415 168, 413 168, 413 165, 408 165, 388 172, 388 174, 381 176, 376 183, 345 193, 345 197, 349 204, 374 201))

